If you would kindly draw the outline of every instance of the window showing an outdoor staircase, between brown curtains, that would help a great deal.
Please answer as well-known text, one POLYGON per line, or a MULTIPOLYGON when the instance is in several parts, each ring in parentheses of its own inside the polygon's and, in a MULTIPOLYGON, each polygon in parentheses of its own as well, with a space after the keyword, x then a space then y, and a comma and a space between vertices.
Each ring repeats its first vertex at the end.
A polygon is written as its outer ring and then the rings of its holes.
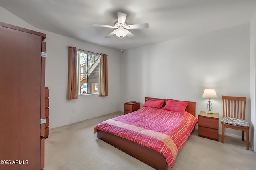
POLYGON ((100 55, 77 49, 77 59, 78 94, 99 93, 100 55))

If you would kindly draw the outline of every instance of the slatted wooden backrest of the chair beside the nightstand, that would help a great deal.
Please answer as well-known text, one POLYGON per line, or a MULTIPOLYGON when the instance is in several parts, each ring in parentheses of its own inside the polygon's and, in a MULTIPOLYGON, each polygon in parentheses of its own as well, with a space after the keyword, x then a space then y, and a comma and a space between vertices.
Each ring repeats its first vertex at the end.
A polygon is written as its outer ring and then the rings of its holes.
POLYGON ((222 96, 223 117, 245 119, 246 97, 222 96))

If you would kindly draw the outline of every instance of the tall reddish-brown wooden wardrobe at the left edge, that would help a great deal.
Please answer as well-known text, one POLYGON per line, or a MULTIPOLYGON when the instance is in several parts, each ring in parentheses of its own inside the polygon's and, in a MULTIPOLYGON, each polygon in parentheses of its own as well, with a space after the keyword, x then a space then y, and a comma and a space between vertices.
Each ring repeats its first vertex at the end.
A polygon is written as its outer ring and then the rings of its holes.
POLYGON ((0 169, 44 168, 46 34, 0 22, 0 169))

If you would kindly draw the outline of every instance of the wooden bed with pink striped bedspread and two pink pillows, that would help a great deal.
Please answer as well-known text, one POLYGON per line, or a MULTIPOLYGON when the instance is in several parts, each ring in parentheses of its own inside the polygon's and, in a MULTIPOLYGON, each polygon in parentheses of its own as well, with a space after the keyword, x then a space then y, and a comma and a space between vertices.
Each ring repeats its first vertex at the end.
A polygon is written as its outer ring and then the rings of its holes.
POLYGON ((198 122, 195 108, 195 102, 145 97, 142 108, 99 123, 94 133, 157 170, 167 170, 168 166, 172 169, 178 152, 198 122), (184 110, 173 105, 174 101, 186 102, 182 103, 184 110), (146 105, 150 102, 154 103, 146 105))

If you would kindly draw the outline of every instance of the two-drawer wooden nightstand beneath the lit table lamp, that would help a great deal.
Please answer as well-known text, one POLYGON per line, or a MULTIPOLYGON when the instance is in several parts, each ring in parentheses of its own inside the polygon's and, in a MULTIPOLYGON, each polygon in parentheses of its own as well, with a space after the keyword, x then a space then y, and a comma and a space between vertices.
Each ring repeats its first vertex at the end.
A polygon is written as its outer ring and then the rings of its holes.
POLYGON ((198 136, 219 141, 219 114, 207 114, 201 111, 198 115, 198 136))

